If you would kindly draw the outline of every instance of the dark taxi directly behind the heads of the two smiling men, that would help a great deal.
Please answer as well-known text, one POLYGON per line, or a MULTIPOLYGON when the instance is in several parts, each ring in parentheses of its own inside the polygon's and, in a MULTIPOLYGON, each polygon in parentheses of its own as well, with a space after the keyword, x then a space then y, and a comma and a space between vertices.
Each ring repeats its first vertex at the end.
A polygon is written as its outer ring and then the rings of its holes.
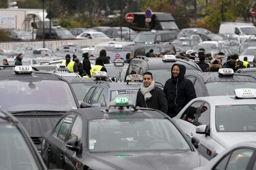
POLYGON ((153 74, 155 81, 164 85, 164 83, 171 78, 171 67, 174 63, 184 65, 187 69, 186 74, 202 72, 197 63, 190 61, 186 57, 169 60, 164 57, 137 56, 135 59, 130 61, 129 67, 126 71, 126 77, 127 75, 133 74, 143 75, 146 71, 150 71, 153 74))

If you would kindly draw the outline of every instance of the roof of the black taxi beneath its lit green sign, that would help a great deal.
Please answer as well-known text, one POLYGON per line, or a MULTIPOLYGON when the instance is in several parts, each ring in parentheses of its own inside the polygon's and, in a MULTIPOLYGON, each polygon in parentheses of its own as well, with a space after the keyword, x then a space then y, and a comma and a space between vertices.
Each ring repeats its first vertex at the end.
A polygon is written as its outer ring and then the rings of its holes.
POLYGON ((120 111, 114 107, 109 109, 109 112, 105 111, 106 108, 79 108, 76 110, 70 110, 70 112, 80 113, 86 119, 115 119, 117 115, 126 114, 125 118, 160 118, 164 119, 166 116, 158 110, 150 108, 141 108, 142 111, 132 111, 125 109, 120 111), (110 111, 111 110, 111 111, 110 111))

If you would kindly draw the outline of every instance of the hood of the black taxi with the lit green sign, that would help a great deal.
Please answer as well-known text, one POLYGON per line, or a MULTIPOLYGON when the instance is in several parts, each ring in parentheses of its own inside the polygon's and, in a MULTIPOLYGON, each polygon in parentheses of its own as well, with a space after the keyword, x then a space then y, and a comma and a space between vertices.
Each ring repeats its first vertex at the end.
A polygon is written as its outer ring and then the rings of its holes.
MULTIPOLYGON (((106 169, 192 169, 200 166, 197 152, 150 152, 150 153, 92 153, 95 160, 109 166, 106 169)), ((97 169, 97 168, 95 168, 97 169)))

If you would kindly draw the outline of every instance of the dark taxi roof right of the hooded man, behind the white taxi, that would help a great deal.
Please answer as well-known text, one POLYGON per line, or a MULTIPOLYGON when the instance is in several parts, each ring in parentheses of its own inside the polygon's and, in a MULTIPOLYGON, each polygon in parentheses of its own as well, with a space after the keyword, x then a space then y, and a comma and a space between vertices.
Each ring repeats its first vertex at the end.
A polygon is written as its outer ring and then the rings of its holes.
MULTIPOLYGON (((189 76, 189 74, 187 74, 189 76)), ((204 72, 194 74, 197 78, 203 79, 203 83, 213 82, 256 82, 256 79, 250 75, 234 73, 233 76, 220 76, 218 72, 204 72)))

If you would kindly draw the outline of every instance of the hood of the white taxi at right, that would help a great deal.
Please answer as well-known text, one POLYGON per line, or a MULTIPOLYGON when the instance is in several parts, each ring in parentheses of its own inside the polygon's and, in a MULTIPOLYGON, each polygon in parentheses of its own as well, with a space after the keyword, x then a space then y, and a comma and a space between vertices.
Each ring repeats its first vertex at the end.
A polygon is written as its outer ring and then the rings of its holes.
POLYGON ((213 139, 228 148, 241 142, 256 140, 256 132, 218 132, 213 139))

